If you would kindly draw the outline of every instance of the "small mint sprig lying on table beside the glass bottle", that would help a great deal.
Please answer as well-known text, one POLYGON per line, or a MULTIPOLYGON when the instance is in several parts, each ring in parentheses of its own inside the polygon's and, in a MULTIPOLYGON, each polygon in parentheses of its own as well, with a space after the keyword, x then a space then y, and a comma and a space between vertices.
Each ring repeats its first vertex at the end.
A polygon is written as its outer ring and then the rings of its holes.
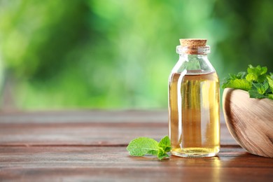
POLYGON ((144 156, 144 155, 156 155, 158 159, 168 158, 167 154, 171 151, 171 141, 168 136, 165 136, 158 141, 148 137, 139 137, 130 141, 127 146, 127 151, 133 156, 144 156))

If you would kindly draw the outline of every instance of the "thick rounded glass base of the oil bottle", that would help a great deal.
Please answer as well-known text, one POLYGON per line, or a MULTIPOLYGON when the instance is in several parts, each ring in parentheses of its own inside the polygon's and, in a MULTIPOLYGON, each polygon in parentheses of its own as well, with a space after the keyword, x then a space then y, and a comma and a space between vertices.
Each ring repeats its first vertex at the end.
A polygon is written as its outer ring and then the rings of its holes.
POLYGON ((208 158, 214 157, 220 151, 220 148, 174 148, 172 149, 172 155, 183 158, 208 158))

